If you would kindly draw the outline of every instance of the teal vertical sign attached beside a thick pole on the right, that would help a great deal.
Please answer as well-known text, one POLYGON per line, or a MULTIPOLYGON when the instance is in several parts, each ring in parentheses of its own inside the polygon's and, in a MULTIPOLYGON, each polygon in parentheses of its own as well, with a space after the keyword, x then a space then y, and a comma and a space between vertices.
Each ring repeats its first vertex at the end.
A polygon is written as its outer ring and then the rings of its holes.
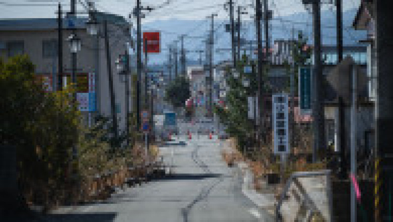
POLYGON ((299 107, 303 114, 311 112, 311 67, 299 68, 299 107))

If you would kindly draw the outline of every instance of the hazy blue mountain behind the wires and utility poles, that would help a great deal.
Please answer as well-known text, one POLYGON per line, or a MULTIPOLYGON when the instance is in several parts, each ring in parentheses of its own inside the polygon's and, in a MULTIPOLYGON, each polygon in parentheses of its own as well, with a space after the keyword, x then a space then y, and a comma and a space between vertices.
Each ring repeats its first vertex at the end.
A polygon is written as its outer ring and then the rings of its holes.
MULTIPOLYGON (((355 18, 357 9, 347 10, 343 13, 343 42, 344 45, 356 45, 358 40, 365 37, 365 32, 355 31, 352 28, 352 22, 355 18)), ((230 33, 225 32, 225 24, 228 20, 215 20, 215 53, 214 62, 217 63, 222 60, 230 59, 230 33), (220 49, 220 50, 218 50, 220 49)), ((321 12, 322 24, 322 43, 324 45, 336 44, 336 13, 335 11, 324 10, 321 12)), ((292 38, 292 28, 297 37, 297 31, 301 30, 309 39, 309 44, 312 44, 312 15, 305 13, 296 13, 289 16, 275 17, 270 25, 270 41, 274 39, 289 39, 292 38)), ((255 40, 255 25, 251 20, 242 21, 241 37, 246 40, 255 40)), ((160 31, 162 52, 157 55, 149 55, 149 64, 168 63, 168 44, 173 43, 181 34, 188 34, 189 36, 204 36, 207 37, 210 30, 210 21, 208 20, 157 20, 154 22, 142 25, 143 31, 160 31)), ((262 27, 263 30, 263 27, 262 27)), ((262 37, 264 32, 262 32, 262 37)), ((264 38, 264 37, 263 37, 264 38)), ((187 50, 204 50, 206 43, 202 42, 203 38, 185 38, 184 47, 187 50)), ((272 41, 273 40, 273 41, 272 41)), ((180 51, 181 43, 177 43, 180 51)), ((247 50, 250 47, 247 46, 247 50)), ((249 54, 249 50, 246 51, 249 54)), ((178 54, 180 56, 180 53, 178 54)), ((199 53, 187 53, 187 61, 190 64, 197 64, 199 53)), ((205 53, 202 54, 204 60, 205 53)))

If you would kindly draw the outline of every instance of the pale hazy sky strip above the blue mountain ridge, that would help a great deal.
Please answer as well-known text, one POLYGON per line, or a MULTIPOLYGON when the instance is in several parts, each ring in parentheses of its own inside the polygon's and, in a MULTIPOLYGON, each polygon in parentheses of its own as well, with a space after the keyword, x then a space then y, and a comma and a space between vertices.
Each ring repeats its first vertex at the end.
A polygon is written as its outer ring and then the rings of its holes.
MULTIPOLYGON (((0 0, 0 18, 48 18, 55 17, 57 2, 59 0, 0 0)), ((78 10, 85 11, 80 2, 86 0, 76 0, 78 10)), ((136 0, 93 0, 96 7, 105 12, 119 14, 128 17, 135 7, 136 0)), ((263 0, 261 0, 263 2, 263 0)), ((334 1, 334 0, 324 0, 334 1)), ((70 9, 70 0, 60 0, 64 4, 63 10, 70 9)), ((217 13, 218 19, 228 17, 228 12, 224 9, 227 0, 141 0, 142 6, 163 6, 157 8, 146 15, 143 22, 151 22, 162 19, 192 19, 200 20, 206 18, 211 13, 217 13), (165 2, 169 2, 165 4, 165 2)), ((235 5, 251 5, 255 0, 234 0, 235 5)), ((358 7, 360 0, 343 0, 343 9, 358 7)), ((332 4, 323 6, 329 9, 332 4)), ((274 11, 275 16, 284 16, 297 12, 304 12, 305 7, 302 0, 269 0, 269 8, 274 11)), ((248 7, 253 12, 252 7, 248 7)), ((249 16, 249 15, 248 15, 249 16)), ((246 16, 246 18, 248 17, 246 16)))

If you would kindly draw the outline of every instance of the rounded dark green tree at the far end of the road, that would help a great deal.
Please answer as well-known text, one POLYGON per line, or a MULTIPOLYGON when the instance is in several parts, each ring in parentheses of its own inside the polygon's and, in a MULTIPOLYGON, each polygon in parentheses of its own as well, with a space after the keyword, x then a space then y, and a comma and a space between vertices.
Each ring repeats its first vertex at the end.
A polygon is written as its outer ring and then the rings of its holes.
POLYGON ((176 77, 167 87, 165 100, 174 107, 184 107, 185 102, 191 97, 190 81, 183 76, 176 77))

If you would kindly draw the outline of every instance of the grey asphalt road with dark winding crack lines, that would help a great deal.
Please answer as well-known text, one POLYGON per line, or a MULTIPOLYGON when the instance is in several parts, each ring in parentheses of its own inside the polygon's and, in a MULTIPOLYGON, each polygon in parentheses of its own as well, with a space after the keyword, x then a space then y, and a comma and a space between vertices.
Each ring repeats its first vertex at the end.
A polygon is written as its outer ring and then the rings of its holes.
POLYGON ((160 149, 168 164, 173 157, 172 176, 119 190, 104 202, 62 207, 41 221, 265 221, 263 213, 241 193, 239 172, 222 161, 217 140, 206 135, 192 140, 183 136, 160 149))

